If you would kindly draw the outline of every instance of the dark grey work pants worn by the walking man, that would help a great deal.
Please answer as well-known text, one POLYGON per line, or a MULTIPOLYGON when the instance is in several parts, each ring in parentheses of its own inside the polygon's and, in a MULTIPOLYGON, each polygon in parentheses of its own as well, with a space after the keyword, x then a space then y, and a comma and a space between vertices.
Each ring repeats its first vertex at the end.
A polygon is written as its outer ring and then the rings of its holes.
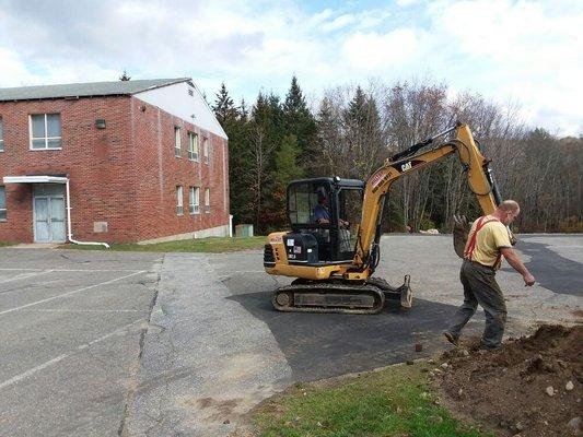
POLYGON ((464 260, 459 280, 464 286, 464 304, 457 309, 450 332, 458 338, 479 304, 486 314, 481 344, 485 347, 499 347, 506 323, 506 304, 495 282, 494 270, 464 260))

